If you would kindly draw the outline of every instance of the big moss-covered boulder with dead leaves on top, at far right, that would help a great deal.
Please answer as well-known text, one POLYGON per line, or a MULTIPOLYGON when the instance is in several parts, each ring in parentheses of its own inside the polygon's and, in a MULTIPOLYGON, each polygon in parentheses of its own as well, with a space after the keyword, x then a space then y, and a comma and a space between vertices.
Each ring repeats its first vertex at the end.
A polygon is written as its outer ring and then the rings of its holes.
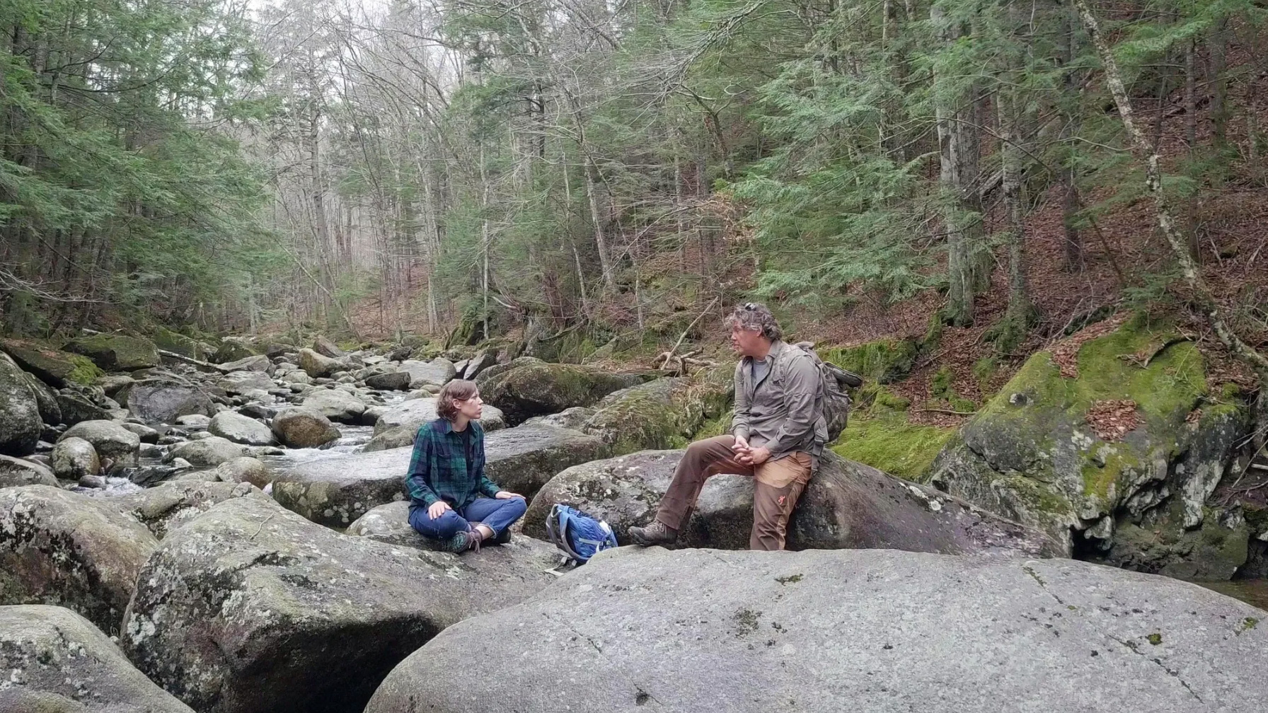
MULTIPOLYGON (((1197 346, 1141 318, 1084 343, 1077 376, 1069 364, 1066 374, 1051 351, 1032 355, 947 443, 931 481, 1044 528, 1068 554, 1161 571, 1198 552, 1145 554, 1115 533, 1132 525, 1181 538, 1210 527, 1206 499, 1246 428, 1246 410, 1206 403, 1197 346), (1123 405, 1125 415, 1106 422, 1098 406, 1107 403, 1123 405)), ((1244 559, 1244 548, 1216 549, 1232 558, 1212 571, 1231 573, 1238 552, 1244 559)))

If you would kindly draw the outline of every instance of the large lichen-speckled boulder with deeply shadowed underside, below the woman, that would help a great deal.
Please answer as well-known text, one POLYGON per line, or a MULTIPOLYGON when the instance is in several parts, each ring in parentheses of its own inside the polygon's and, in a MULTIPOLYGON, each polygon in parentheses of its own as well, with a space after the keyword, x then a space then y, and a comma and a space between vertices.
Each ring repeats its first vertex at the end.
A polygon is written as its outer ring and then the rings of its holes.
POLYGON ((120 638, 142 671, 200 713, 360 710, 437 632, 552 579, 512 554, 394 547, 232 499, 169 533, 120 638))

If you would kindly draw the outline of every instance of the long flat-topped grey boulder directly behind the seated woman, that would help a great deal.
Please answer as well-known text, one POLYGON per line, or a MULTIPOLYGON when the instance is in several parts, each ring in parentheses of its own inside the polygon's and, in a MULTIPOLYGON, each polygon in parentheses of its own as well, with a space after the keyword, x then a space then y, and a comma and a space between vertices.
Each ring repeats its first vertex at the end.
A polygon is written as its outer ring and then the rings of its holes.
MULTIPOLYGON (((273 478, 273 496, 304 518, 346 528, 372 507, 404 500, 412 448, 317 457, 273 478)), ((484 472, 506 490, 531 497, 555 473, 602 458, 595 436, 552 426, 520 426, 484 436, 484 472)))

